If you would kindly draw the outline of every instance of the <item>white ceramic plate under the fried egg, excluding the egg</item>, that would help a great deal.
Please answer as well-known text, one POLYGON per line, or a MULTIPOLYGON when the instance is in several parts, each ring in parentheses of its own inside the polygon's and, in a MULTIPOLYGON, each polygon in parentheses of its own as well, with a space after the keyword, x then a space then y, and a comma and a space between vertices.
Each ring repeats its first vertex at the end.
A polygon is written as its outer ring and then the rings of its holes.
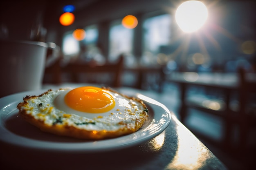
POLYGON ((44 91, 16 93, 0 98, 0 142, 27 149, 96 152, 116 150, 141 144, 163 132, 171 121, 170 111, 161 103, 141 94, 135 94, 148 106, 145 124, 130 135, 99 141, 61 137, 40 131, 18 116, 17 104, 26 95, 39 95, 44 91))

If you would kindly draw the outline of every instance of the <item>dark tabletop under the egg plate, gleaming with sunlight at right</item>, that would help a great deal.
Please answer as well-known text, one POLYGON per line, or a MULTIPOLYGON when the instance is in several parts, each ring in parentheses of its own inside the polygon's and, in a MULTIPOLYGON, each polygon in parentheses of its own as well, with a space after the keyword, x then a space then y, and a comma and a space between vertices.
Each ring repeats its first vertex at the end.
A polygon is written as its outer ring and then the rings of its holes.
MULTIPOLYGON (((45 89, 66 87, 46 85, 45 89)), ((81 84, 72 84, 81 86, 81 84)), ((121 93, 141 93, 157 99, 158 93, 119 88, 121 93)), ((161 102, 161 101, 159 101, 161 102)), ((225 170, 225 165, 171 112, 169 126, 157 137, 138 146, 97 153, 58 153, 2 147, 1 166, 11 169, 61 170, 225 170), (36 168, 35 168, 36 167, 36 168)))

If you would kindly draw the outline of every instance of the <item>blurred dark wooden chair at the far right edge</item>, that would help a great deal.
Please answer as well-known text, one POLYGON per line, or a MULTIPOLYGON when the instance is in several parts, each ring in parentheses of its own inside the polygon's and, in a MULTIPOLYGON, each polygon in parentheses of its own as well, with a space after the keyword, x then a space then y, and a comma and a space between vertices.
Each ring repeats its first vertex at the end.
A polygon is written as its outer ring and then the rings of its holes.
POLYGON ((248 146, 248 138, 252 127, 256 127, 256 74, 247 73, 244 68, 238 69, 239 84, 239 113, 238 125, 240 129, 239 150, 248 146))

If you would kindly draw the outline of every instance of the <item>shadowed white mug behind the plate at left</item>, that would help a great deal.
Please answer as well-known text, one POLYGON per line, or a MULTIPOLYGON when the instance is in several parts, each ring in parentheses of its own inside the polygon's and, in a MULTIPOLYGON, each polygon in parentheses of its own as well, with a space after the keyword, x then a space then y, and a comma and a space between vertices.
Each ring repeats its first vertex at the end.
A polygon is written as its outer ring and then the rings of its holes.
POLYGON ((0 97, 42 86, 47 43, 0 40, 0 97))

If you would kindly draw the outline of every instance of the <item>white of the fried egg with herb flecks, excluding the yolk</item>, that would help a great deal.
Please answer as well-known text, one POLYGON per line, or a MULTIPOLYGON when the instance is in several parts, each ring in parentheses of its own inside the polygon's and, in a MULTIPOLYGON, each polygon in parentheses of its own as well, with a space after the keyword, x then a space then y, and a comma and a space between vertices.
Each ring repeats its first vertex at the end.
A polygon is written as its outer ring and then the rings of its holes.
POLYGON ((40 97, 29 99, 26 110, 35 119, 45 124, 65 124, 85 130, 117 130, 123 126, 136 126, 141 119, 145 106, 138 100, 132 100, 118 93, 108 91, 115 99, 115 107, 106 113, 84 113, 68 107, 64 102, 65 95, 71 88, 48 91, 40 97))

